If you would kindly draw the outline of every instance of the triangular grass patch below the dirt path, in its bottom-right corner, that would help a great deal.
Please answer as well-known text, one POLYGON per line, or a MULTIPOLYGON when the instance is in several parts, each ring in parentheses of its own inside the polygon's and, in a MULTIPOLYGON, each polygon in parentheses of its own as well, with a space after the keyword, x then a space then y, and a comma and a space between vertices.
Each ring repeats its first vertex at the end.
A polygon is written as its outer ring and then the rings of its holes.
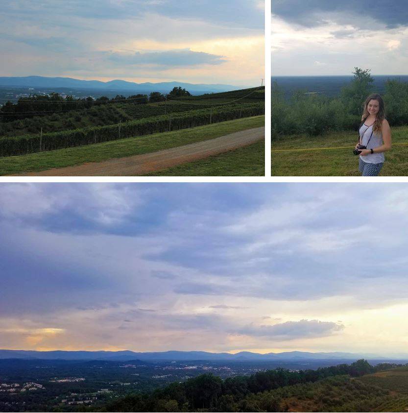
POLYGON ((265 143, 235 149, 206 159, 149 173, 147 176, 264 176, 265 143))

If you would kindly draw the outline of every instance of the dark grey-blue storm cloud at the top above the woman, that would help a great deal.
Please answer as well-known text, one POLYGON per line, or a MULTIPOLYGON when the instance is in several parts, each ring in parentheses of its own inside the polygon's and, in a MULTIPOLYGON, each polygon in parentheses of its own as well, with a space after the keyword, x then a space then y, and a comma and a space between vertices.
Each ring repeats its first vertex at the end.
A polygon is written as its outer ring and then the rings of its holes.
POLYGON ((323 24, 327 16, 336 20, 336 15, 344 23, 344 15, 353 18, 353 24, 374 19, 388 28, 408 24, 408 4, 405 0, 275 0, 272 13, 282 19, 308 27, 323 24))

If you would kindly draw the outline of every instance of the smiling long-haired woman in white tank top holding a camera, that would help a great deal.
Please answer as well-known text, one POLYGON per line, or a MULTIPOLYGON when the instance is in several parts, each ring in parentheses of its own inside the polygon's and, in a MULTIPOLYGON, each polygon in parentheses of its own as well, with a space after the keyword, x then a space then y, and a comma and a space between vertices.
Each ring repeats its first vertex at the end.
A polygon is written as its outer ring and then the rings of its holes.
POLYGON ((360 140, 356 145, 360 152, 361 176, 377 176, 384 164, 384 152, 391 149, 391 130, 384 116, 383 98, 377 94, 368 96, 361 117, 360 140), (366 149, 359 146, 366 146, 366 149))

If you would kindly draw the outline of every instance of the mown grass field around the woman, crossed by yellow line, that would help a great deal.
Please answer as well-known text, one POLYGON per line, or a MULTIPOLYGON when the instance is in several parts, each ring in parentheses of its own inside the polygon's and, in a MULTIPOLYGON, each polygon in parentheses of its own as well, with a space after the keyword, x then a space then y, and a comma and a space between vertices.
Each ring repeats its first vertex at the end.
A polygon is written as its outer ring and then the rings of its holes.
MULTIPOLYGON (((380 176, 408 175, 408 126, 393 127, 393 147, 385 152, 380 176)), ((285 136, 272 139, 272 176, 360 176, 358 156, 353 155, 357 132, 324 136, 285 136), (338 147, 341 149, 323 149, 338 147), (286 149, 307 149, 286 151, 286 149), (316 149, 322 148, 322 149, 316 149), (281 151, 284 150, 285 151, 281 151)))

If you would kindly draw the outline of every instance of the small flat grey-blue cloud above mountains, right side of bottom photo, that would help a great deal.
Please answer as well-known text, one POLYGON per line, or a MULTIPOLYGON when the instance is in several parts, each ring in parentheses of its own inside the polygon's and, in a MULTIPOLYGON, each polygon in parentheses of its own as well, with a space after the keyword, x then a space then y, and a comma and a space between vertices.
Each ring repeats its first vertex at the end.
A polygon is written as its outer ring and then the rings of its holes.
POLYGON ((240 333, 278 340, 294 340, 330 336, 343 329, 344 325, 338 322, 303 319, 274 325, 261 325, 259 327, 247 326, 240 330, 240 333))

